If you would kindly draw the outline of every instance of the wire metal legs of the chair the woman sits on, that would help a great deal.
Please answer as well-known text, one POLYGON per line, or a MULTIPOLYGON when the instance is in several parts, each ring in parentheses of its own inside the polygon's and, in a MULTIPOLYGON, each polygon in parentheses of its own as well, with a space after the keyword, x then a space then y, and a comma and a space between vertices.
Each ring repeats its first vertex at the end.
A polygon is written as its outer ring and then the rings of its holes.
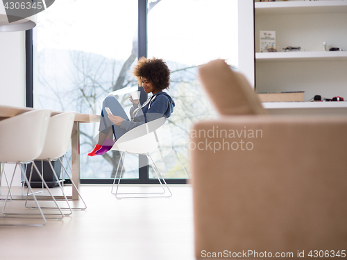
MULTIPOLYGON (((122 152, 121 153, 121 157, 122 155, 124 154, 125 156, 125 153, 122 152)), ((172 196, 172 193, 169 189, 169 187, 167 186, 167 182, 165 182, 164 180, 164 177, 162 177, 162 174, 160 173, 158 167, 155 165, 151 155, 147 154, 146 155, 148 158, 149 158, 149 162, 151 163, 152 167, 153 167, 153 170, 155 171, 155 174, 157 175, 158 177, 158 181, 160 183, 160 186, 162 187, 162 192, 139 192, 139 193, 119 193, 118 192, 118 189, 119 189, 119 184, 121 182, 121 175, 119 175, 119 179, 118 179, 118 183, 117 183, 117 188, 116 188, 116 192, 113 193, 113 188, 115 187, 115 181, 117 179, 117 173, 118 173, 118 170, 119 170, 119 164, 117 166, 117 172, 116 172, 116 175, 115 175, 115 179, 113 180, 113 185, 112 185, 112 190, 111 190, 111 193, 114 194, 116 196, 117 199, 122 199, 122 198, 169 198, 172 196), (160 180, 160 177, 162 178, 164 184, 165 184, 165 187, 167 187, 167 190, 169 191, 170 195, 169 196, 162 196, 160 194, 164 194, 166 193, 166 190, 164 189, 164 185, 162 184, 162 181, 160 180), (158 195, 159 194, 159 195, 158 195), (120 195, 120 196, 119 196, 120 195), (147 196, 146 196, 147 195, 147 196)))

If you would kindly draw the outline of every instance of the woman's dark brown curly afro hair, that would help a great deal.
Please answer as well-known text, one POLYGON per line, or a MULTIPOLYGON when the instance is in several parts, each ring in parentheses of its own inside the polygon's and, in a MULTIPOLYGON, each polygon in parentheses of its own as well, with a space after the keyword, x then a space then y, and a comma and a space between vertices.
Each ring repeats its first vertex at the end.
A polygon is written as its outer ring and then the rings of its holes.
POLYGON ((139 86, 142 86, 142 77, 151 80, 155 89, 169 89, 170 70, 162 59, 144 57, 139 58, 133 75, 137 78, 139 86))

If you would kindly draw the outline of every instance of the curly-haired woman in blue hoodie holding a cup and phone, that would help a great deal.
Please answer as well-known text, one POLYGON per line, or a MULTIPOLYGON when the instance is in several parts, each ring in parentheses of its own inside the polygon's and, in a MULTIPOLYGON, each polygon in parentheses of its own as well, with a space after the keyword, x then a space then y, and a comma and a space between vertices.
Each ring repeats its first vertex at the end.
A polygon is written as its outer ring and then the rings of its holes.
POLYGON ((133 100, 130 96, 130 102, 133 103, 133 107, 130 108, 130 120, 117 98, 106 97, 101 111, 99 141, 94 150, 88 153, 89 156, 103 155, 108 152, 115 144, 115 141, 112 140, 113 136, 117 140, 124 133, 143 123, 162 116, 169 117, 174 112, 174 100, 169 94, 163 92, 163 89, 169 89, 170 70, 162 59, 139 58, 133 75, 137 78, 139 86, 144 88, 144 92, 152 93, 152 96, 141 106, 138 100, 133 100), (112 114, 108 114, 105 107, 109 107, 112 114), (108 116, 104 116, 104 114, 108 114, 108 116))

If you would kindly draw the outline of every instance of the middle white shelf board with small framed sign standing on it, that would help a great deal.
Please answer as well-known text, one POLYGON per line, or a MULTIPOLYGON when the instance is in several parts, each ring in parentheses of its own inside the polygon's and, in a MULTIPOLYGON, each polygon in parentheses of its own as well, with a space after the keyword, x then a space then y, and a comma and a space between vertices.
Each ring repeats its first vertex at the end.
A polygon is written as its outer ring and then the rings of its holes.
POLYGON ((344 61, 347 60, 347 51, 255 53, 255 60, 257 62, 344 61))

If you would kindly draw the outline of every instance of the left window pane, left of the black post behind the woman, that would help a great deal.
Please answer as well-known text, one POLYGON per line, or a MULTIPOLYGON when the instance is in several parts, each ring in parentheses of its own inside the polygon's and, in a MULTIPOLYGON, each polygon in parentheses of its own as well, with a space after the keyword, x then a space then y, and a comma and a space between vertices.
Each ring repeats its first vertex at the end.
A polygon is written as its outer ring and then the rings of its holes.
MULTIPOLYGON (((35 107, 100 114, 103 98, 136 87, 137 0, 60 0, 38 15, 35 107)), ((128 111, 128 95, 117 98, 128 111)), ((119 153, 88 157, 98 124, 81 123, 81 179, 112 178, 119 153)), ((126 157, 124 177, 138 177, 138 157, 126 157), (129 162, 130 161, 130 162, 129 162)))

